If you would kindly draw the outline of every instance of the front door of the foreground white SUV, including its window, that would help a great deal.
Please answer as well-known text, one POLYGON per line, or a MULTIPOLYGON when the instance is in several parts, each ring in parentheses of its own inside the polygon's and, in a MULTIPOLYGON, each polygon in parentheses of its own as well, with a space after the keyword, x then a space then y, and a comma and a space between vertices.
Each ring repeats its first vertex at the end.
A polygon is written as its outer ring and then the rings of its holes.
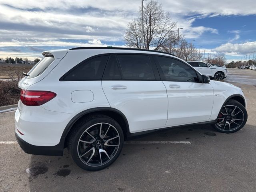
POLYGON ((154 60, 168 95, 166 127, 208 121, 214 101, 212 86, 199 82, 199 74, 177 58, 155 55, 154 60))

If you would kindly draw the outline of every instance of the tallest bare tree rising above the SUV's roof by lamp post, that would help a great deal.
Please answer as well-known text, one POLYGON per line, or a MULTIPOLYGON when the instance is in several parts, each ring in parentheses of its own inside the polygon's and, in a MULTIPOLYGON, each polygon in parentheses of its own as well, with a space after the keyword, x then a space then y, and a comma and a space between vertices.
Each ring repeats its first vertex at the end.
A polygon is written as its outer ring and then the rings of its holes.
MULTIPOLYGON (((143 6, 144 14, 144 41, 143 48, 161 50, 166 49, 171 43, 176 22, 172 22, 170 14, 164 12, 162 5, 157 0, 151 0, 143 6)), ((124 36, 126 46, 141 47, 141 7, 138 18, 130 22, 124 36)))

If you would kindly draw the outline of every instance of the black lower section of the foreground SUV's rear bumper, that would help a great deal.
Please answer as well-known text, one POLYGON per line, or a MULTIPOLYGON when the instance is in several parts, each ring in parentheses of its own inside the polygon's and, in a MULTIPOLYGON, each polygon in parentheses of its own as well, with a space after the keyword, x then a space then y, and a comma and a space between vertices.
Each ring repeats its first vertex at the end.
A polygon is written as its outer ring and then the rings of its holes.
POLYGON ((52 155, 52 156, 62 156, 63 155, 63 148, 64 148, 64 141, 65 138, 62 137, 60 139, 60 143, 55 146, 36 146, 27 143, 26 141, 22 140, 18 134, 15 132, 16 140, 18 144, 22 148, 25 153, 33 154, 33 155, 52 155))

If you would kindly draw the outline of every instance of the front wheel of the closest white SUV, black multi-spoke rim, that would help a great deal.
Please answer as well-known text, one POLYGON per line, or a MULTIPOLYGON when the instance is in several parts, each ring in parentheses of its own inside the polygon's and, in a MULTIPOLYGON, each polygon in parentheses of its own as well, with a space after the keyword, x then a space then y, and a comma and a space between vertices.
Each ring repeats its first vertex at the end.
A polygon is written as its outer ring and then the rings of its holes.
POLYGON ((226 102, 226 104, 224 104, 222 106, 220 113, 218 114, 218 118, 217 118, 218 123, 213 124, 212 126, 218 132, 234 133, 244 127, 244 125, 247 122, 247 117, 248 117, 248 115, 247 115, 246 108, 244 108, 244 106, 242 104, 240 104, 238 101, 230 99, 228 102, 226 102), (241 111, 239 111, 239 110, 241 110, 241 111), (228 114, 228 115, 226 116, 226 114, 228 114), (242 118, 243 118, 243 121, 239 120, 242 118), (222 121, 222 120, 224 120, 224 121, 222 121), (223 124, 223 126, 222 126, 222 124, 223 124), (234 128, 231 129, 232 126, 234 128))

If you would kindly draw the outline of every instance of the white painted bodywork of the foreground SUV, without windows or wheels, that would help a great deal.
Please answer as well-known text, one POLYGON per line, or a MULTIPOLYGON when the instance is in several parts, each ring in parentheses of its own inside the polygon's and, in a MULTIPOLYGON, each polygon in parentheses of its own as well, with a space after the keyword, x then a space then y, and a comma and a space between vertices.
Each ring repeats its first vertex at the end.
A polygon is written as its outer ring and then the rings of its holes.
MULTIPOLYGON (((21 102, 15 113, 15 130, 24 141, 55 146, 70 120, 84 110, 112 107, 128 120, 130 132, 215 120, 224 101, 242 90, 224 82, 210 84, 159 81, 60 81, 66 72, 86 58, 104 53, 146 53, 135 50, 85 49, 50 51, 58 59, 38 77, 20 80, 25 90, 47 90, 56 97, 42 106, 21 102), (169 84, 179 84, 171 89, 169 84), (124 85, 126 89, 112 89, 124 85), (217 94, 217 95, 215 95, 217 94), (24 136, 17 132, 20 130, 24 136)), ((174 56, 171 56, 176 58, 174 56)))

